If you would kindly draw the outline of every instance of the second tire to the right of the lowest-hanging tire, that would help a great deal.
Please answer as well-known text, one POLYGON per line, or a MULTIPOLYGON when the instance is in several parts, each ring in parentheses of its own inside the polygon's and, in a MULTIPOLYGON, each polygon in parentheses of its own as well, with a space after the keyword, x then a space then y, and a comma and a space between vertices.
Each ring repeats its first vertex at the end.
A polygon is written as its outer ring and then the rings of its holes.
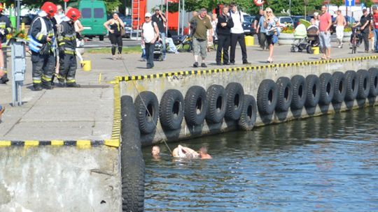
POLYGON ((291 105, 291 100, 293 99, 293 87, 291 85, 291 81, 288 77, 279 77, 276 84, 278 90, 276 111, 286 112, 288 111, 291 105))

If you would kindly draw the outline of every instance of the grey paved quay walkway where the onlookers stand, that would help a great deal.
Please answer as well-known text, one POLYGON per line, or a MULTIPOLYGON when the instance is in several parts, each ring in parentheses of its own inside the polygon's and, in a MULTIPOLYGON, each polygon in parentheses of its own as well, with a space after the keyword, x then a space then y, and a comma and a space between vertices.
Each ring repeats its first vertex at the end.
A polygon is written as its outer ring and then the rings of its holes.
MULTIPOLYGON (((333 44, 335 45, 335 43, 333 44)), ((332 58, 367 56, 360 47, 350 54, 349 46, 332 48, 332 58)), ((208 69, 216 66, 215 52, 209 52, 208 69)), ((268 52, 248 47, 248 61, 252 66, 265 64, 268 52)), ((31 91, 31 62, 27 59, 27 79, 22 89, 22 107, 10 107, 11 85, 0 85, 0 104, 6 107, 0 123, 0 139, 110 139, 113 123, 113 86, 106 82, 120 75, 147 75, 180 70, 194 70, 193 54, 168 54, 166 61, 155 61, 155 68, 146 69, 139 61, 140 54, 125 54, 124 60, 111 60, 108 54, 84 54, 92 61, 92 71, 78 70, 80 89, 55 87, 50 91, 31 91), (99 80, 100 79, 100 80, 99 80)), ((290 46, 275 47, 274 63, 318 60, 319 55, 292 53, 290 46)), ((237 64, 242 66, 241 52, 237 49, 237 64)), ((8 62, 9 63, 9 62, 8 62)), ((232 66, 222 66, 232 67, 232 66)), ((10 70, 10 67, 8 68, 10 70)))

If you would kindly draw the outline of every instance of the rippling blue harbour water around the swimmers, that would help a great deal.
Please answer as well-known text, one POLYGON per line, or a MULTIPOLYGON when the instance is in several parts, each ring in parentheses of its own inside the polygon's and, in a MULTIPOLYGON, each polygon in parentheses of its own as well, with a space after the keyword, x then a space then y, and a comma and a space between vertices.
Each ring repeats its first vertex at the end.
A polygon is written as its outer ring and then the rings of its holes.
POLYGON ((369 107, 169 144, 212 160, 148 147, 146 211, 378 211, 377 118, 369 107))

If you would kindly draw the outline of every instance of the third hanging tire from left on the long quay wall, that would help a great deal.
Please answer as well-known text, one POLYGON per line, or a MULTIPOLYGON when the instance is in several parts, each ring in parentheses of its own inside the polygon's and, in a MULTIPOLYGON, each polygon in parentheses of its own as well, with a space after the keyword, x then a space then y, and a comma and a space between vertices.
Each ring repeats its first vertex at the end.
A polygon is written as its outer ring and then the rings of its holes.
POLYGON ((189 126, 204 122, 207 112, 206 91, 201 86, 191 86, 185 96, 185 120, 189 126))

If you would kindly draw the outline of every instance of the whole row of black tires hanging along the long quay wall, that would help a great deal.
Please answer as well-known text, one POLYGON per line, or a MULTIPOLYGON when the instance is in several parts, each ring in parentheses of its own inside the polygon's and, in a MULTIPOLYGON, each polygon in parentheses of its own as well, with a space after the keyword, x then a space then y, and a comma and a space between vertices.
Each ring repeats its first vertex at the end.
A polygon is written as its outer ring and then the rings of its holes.
POLYGON ((288 112, 303 107, 330 105, 376 97, 378 69, 348 70, 346 73, 323 73, 320 76, 295 75, 291 79, 279 77, 276 82, 264 79, 260 83, 257 103, 253 96, 244 95, 241 84, 231 82, 225 88, 214 84, 207 91, 191 86, 184 97, 176 89, 163 94, 160 103, 155 93, 144 91, 137 96, 134 106, 141 133, 155 131, 158 119, 164 130, 178 130, 183 119, 188 126, 221 123, 223 119, 237 121, 242 130, 251 130, 257 112, 269 116, 274 112, 288 112))

